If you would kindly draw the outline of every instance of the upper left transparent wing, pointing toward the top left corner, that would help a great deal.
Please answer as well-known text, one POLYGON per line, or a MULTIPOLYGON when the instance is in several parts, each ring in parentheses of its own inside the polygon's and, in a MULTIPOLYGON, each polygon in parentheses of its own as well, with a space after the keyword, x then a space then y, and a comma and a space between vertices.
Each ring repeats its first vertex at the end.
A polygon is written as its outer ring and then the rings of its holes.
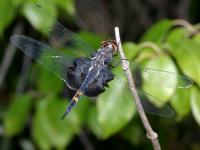
POLYGON ((49 45, 52 48, 64 49, 73 57, 91 57, 91 54, 96 51, 87 42, 56 21, 55 17, 51 16, 44 8, 39 5, 31 5, 31 7, 39 15, 43 33, 49 35, 49 45))

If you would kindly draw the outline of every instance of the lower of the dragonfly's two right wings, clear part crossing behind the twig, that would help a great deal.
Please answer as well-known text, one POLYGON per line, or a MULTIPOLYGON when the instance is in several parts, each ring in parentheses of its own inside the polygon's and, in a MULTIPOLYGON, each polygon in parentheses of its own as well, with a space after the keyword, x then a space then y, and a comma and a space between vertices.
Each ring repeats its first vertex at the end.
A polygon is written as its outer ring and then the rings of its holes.
MULTIPOLYGON (((125 99, 125 100, 133 100, 134 97, 131 94, 124 71, 121 68, 115 68, 113 70, 113 73, 115 75, 115 78, 109 83, 109 88, 113 88, 114 93, 110 93, 110 94, 115 95, 115 92, 116 92, 115 89, 118 89, 119 87, 121 87, 121 88, 119 88, 120 91, 118 91, 118 93, 120 93, 119 97, 121 97, 122 99, 125 99)), ((111 91, 112 91, 112 89, 111 89, 111 91)), ((145 91, 142 91, 140 89, 137 89, 137 93, 140 97, 140 100, 144 107, 145 112, 163 116, 163 117, 174 116, 174 111, 172 110, 172 108, 169 105, 166 104, 162 107, 157 107, 156 105, 151 103, 152 100, 158 101, 158 102, 162 101, 159 98, 152 96, 151 94, 149 94, 145 91)), ((109 94, 109 93, 107 93, 107 94, 109 94)))

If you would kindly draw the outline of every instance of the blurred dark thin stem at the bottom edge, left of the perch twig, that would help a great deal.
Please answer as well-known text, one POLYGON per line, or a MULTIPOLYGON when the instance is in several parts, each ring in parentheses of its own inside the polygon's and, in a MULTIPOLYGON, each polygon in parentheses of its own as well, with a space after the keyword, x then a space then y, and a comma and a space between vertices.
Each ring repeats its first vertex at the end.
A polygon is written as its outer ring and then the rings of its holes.
POLYGON ((85 150, 94 150, 90 140, 88 139, 83 129, 80 130, 79 139, 81 143, 83 144, 83 146, 85 147, 85 150))

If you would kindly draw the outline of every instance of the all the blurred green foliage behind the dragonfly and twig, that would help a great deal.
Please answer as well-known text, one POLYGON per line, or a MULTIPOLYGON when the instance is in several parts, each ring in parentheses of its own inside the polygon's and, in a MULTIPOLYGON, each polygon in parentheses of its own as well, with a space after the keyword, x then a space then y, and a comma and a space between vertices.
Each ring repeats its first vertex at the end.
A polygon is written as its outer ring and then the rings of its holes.
MULTIPOLYGON (((16 16, 25 17, 35 30, 44 33, 46 28, 40 20, 40 14, 31 7, 34 3, 51 14, 52 22, 48 23, 52 25, 57 20, 58 8, 67 14, 66 19, 71 20, 75 15, 73 0, 2 0, 1 36, 16 16)), ((125 42, 123 47, 130 61, 136 61, 144 67, 180 73, 193 80, 193 86, 188 89, 177 89, 176 85, 169 89, 152 87, 148 81, 153 79, 146 77, 142 88, 161 99, 152 100, 155 105, 170 103, 177 114, 177 121, 184 120, 192 112, 200 125, 200 34, 189 38, 189 31, 183 27, 169 32, 172 26, 173 20, 160 21, 146 31, 139 43, 125 42), (141 44, 146 41, 156 45, 160 51, 148 46, 141 48, 141 44)), ((94 48, 98 48, 103 40, 103 37, 83 31, 77 35, 94 48)), ((119 73, 118 68, 113 71, 119 73)), ((120 76, 125 78, 123 73, 120 76)), ((120 82, 111 82, 106 92, 97 97, 95 102, 83 97, 70 115, 60 120, 68 103, 61 96, 64 84, 38 64, 34 64, 29 80, 33 85, 26 94, 11 96, 11 103, 3 116, 5 137, 18 136, 28 127, 31 132, 28 138, 33 139, 39 149, 64 149, 84 126, 99 139, 105 140, 119 133, 134 145, 145 143, 143 127, 137 122, 133 101, 127 98, 130 93, 120 82), (32 76, 35 77, 31 78, 32 76)), ((170 81, 166 78, 162 84, 168 82, 170 81)))

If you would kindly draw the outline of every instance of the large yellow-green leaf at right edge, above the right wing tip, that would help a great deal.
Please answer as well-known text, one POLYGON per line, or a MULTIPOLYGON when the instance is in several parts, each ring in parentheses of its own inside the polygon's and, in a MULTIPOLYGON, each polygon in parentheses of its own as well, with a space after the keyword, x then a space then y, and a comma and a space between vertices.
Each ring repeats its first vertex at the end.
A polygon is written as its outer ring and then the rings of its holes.
POLYGON ((200 85, 200 44, 187 39, 183 29, 171 33, 168 42, 181 71, 200 85))

